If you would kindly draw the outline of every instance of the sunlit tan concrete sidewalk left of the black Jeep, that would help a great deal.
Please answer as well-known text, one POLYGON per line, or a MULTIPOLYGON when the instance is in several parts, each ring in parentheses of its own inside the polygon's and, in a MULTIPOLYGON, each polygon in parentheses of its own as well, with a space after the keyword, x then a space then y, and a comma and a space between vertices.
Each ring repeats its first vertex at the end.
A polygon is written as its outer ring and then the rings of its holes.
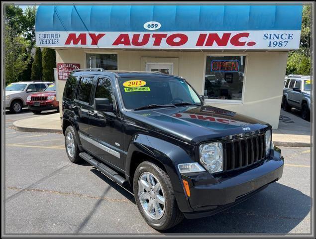
POLYGON ((17 120, 13 128, 25 132, 63 132, 59 113, 17 120))

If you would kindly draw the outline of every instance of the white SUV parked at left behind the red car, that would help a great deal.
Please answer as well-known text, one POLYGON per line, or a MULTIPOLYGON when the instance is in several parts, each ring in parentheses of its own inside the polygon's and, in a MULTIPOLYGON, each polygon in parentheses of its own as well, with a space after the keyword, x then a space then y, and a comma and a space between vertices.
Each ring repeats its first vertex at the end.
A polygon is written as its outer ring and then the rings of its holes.
POLYGON ((26 98, 35 92, 44 91, 54 82, 43 81, 20 81, 7 85, 5 87, 5 109, 12 113, 20 113, 26 106, 26 98))

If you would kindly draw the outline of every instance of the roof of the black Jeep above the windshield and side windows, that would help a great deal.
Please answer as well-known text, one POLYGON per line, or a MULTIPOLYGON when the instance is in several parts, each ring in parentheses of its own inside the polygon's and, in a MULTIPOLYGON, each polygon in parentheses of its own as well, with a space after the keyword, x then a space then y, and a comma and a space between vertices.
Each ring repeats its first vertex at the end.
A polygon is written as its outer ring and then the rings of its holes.
POLYGON ((168 75, 163 74, 156 71, 90 71, 89 69, 80 69, 79 71, 74 71, 74 74, 76 73, 81 74, 89 74, 89 75, 106 75, 106 76, 114 76, 117 78, 125 78, 125 77, 168 77, 168 78, 181 78, 180 76, 174 76, 174 75, 168 75))

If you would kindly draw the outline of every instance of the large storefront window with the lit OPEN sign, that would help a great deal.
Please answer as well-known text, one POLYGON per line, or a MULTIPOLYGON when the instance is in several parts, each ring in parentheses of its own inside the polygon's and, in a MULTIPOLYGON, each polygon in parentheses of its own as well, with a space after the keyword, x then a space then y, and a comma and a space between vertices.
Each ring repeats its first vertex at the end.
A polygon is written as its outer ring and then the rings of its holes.
POLYGON ((245 56, 207 56, 205 99, 241 101, 245 56))

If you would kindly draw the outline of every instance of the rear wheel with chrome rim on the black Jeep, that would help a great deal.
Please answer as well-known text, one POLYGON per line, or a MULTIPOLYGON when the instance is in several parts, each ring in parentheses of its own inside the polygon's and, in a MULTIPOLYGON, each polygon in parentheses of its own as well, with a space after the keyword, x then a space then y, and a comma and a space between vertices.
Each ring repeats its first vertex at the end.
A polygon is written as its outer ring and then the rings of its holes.
POLYGON ((77 144, 76 134, 73 126, 68 126, 65 130, 65 147, 69 160, 73 163, 82 161, 79 156, 79 148, 77 144))

